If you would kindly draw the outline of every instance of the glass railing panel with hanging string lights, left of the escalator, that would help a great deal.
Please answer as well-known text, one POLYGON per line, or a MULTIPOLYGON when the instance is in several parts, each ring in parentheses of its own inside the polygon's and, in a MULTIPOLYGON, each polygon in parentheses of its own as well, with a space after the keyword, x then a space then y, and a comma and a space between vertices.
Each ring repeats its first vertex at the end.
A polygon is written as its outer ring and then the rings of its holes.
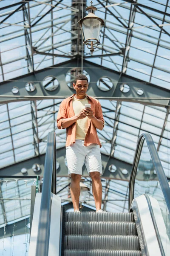
POLYGON ((31 186, 36 186, 36 181, 36 176, 27 179, 0 177, 0 230, 3 231, 0 236, 1 255, 28 255, 31 186), (4 225, 5 222, 7 225, 4 225))

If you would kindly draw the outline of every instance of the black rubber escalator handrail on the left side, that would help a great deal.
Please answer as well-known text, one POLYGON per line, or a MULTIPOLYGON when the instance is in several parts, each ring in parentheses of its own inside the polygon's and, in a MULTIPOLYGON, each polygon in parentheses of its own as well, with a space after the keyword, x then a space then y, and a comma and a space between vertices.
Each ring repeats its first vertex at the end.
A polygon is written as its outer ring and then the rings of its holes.
POLYGON ((38 225, 36 256, 47 256, 50 236, 51 192, 56 195, 56 135, 48 133, 38 225))

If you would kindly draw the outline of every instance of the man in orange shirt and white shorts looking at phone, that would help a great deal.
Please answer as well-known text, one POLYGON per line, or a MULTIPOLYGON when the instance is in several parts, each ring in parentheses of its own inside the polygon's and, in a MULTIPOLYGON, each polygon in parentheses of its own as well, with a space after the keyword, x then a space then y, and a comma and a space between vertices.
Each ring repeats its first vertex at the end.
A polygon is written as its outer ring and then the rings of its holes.
POLYGON ((67 128, 66 157, 74 212, 79 212, 79 183, 84 163, 92 179, 96 212, 102 212, 102 161, 99 149, 102 145, 96 132, 96 128, 102 130, 104 127, 102 107, 98 100, 86 94, 88 78, 85 75, 76 76, 73 87, 76 94, 60 104, 57 127, 67 128), (91 108, 85 108, 85 104, 91 104, 91 108))

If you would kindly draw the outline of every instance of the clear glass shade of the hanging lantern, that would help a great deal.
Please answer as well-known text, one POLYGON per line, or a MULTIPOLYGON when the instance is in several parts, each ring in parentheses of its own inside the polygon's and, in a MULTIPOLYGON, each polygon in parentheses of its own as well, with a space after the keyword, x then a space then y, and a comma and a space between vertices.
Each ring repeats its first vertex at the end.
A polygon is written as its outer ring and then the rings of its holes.
POLYGON ((99 41, 99 35, 102 22, 96 18, 89 17, 82 21, 82 32, 84 41, 90 44, 90 42, 97 43, 99 41))

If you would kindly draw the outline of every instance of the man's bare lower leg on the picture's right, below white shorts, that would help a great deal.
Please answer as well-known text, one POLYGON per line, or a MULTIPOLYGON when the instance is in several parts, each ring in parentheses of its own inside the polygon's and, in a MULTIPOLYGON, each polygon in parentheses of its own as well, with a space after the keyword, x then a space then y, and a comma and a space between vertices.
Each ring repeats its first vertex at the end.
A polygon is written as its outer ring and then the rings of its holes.
POLYGON ((98 211, 102 206, 102 182, 99 172, 91 172, 90 175, 92 179, 92 191, 96 204, 96 211, 98 211))

